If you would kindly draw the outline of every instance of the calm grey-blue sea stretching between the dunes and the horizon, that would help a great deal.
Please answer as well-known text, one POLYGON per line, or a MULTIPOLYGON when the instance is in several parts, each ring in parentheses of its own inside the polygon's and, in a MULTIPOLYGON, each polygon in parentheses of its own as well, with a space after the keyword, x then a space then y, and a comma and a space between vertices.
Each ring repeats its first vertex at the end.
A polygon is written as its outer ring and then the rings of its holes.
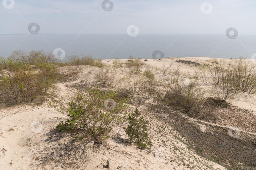
POLYGON ((251 58, 256 53, 256 35, 206 34, 0 34, 0 56, 7 57, 13 50, 53 51, 61 48, 66 58, 89 55, 95 59, 152 58, 155 50, 165 57, 205 56, 216 58, 251 58))

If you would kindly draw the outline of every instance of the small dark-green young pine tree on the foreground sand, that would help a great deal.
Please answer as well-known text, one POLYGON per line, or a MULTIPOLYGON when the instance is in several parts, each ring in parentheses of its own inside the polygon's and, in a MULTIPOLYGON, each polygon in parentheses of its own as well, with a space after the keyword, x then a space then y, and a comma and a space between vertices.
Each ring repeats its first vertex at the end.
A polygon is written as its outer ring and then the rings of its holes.
POLYGON ((136 108, 135 113, 129 114, 129 126, 125 129, 126 134, 129 136, 129 140, 135 143, 138 148, 144 149, 148 146, 153 146, 152 142, 149 141, 147 131, 148 121, 144 120, 143 117, 139 117, 139 113, 136 108))

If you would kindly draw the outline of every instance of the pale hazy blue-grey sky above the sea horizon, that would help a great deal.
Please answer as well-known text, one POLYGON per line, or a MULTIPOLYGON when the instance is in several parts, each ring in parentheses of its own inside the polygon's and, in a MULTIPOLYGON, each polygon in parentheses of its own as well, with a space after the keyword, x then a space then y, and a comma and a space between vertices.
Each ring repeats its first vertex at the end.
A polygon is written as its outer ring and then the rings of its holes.
POLYGON ((40 34, 125 34, 130 25, 144 34, 225 34, 229 27, 239 34, 256 33, 255 0, 111 0, 111 11, 102 8, 102 0, 12 1, 7 1, 10 9, 0 4, 2 34, 29 34, 32 22, 40 34), (208 5, 201 10, 204 2, 208 5))

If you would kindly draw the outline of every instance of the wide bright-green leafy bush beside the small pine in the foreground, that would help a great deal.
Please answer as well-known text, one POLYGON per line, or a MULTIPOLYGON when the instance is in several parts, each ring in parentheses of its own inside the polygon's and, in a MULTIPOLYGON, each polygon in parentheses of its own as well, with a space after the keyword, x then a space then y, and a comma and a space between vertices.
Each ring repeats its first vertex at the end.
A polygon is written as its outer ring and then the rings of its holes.
POLYGON ((101 144, 116 134, 115 127, 126 121, 126 109, 129 108, 114 91, 101 92, 99 89, 88 89, 87 93, 78 92, 67 96, 58 105, 58 111, 67 114, 70 119, 61 122, 57 127, 62 131, 79 130, 90 135, 95 144, 101 144))

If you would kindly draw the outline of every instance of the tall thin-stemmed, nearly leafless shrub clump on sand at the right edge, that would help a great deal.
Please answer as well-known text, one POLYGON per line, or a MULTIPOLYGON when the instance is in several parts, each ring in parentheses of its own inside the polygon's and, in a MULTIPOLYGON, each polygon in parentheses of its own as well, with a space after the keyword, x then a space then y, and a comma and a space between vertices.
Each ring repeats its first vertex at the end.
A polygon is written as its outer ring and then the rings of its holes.
POLYGON ((246 59, 211 60, 212 66, 200 66, 199 74, 205 85, 214 85, 214 96, 219 104, 232 99, 240 91, 256 92, 256 66, 246 59))

